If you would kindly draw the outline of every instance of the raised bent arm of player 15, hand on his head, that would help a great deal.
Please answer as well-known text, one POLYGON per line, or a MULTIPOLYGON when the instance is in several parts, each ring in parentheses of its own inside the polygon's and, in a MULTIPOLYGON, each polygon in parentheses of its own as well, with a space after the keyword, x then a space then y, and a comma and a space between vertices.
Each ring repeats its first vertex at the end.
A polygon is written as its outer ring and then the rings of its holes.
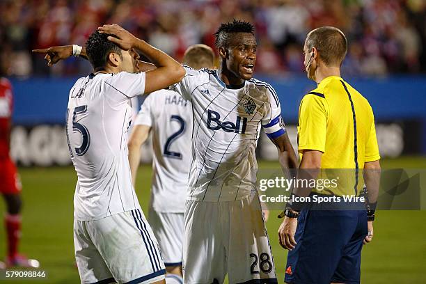
POLYGON ((117 24, 107 24, 99 28, 101 33, 114 35, 109 36, 108 40, 116 43, 124 50, 137 49, 145 55, 155 66, 156 69, 150 70, 145 74, 145 94, 152 93, 155 90, 167 88, 178 83, 184 77, 185 70, 175 59, 168 56, 161 50, 152 47, 144 40, 136 38, 121 26, 117 24))

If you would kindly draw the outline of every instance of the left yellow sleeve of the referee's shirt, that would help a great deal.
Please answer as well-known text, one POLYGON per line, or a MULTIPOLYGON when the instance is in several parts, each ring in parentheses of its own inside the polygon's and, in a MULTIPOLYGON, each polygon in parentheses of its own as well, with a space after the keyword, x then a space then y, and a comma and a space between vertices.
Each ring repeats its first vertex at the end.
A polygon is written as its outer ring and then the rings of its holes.
POLYGON ((324 97, 305 95, 299 107, 299 152, 325 152, 327 111, 324 97))

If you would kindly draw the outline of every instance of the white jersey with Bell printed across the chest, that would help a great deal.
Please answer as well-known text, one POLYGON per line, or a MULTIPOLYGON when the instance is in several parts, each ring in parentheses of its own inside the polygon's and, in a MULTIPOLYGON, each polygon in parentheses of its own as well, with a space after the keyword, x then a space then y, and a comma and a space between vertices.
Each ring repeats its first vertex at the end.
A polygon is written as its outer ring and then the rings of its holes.
POLYGON ((230 201, 255 193, 260 127, 269 138, 285 133, 274 88, 251 79, 226 86, 216 70, 193 70, 172 88, 191 101, 194 159, 189 200, 230 201))

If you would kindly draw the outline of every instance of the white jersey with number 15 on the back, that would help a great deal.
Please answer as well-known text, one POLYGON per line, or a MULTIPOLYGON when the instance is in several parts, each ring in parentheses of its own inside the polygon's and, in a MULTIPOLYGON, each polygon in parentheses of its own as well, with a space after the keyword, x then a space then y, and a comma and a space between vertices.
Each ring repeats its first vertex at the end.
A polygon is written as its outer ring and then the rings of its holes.
POLYGON ((128 161, 130 98, 142 95, 145 73, 90 74, 70 90, 67 138, 77 171, 74 217, 90 221, 139 209, 128 161))

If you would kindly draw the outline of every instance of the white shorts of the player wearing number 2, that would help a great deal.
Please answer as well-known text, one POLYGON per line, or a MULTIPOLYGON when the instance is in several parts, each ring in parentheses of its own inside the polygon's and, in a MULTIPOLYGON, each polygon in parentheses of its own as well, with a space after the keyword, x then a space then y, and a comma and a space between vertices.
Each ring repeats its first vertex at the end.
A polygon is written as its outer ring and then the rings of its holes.
POLYGON ((159 242, 166 267, 182 265, 183 215, 183 213, 162 213, 152 209, 148 213, 148 221, 159 242))

